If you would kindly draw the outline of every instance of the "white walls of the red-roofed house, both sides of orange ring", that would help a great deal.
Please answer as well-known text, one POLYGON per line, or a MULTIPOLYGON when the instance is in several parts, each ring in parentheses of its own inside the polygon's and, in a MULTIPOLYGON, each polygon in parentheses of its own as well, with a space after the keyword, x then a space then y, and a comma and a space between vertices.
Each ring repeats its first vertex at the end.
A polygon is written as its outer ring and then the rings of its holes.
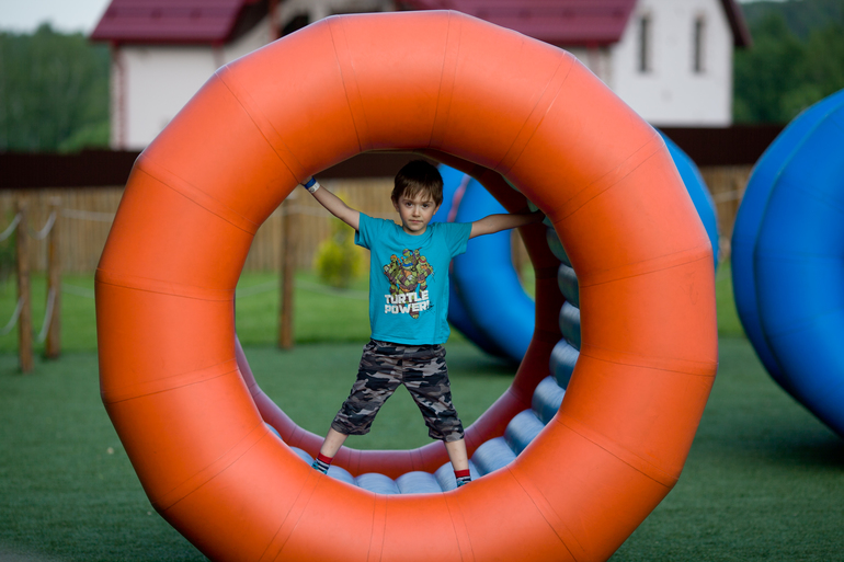
MULTIPOLYGON (((391 10, 390 0, 286 0, 278 24, 308 13, 391 10)), ((270 41, 269 19, 223 47, 125 45, 113 53, 112 147, 142 149, 220 66, 270 41)), ((732 121, 732 34, 720 0, 639 0, 621 41, 572 48, 590 70, 655 126, 727 126, 732 121), (638 22, 652 18, 652 70, 638 70, 638 22), (705 70, 693 71, 695 18, 706 21, 705 70)))

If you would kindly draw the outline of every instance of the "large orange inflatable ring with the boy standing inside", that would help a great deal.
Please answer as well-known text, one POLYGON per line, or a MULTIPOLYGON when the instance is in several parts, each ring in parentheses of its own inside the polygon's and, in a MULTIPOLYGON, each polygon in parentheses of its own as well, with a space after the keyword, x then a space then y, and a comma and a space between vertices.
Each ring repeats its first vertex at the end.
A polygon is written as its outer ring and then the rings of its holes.
MULTIPOLYGON (((155 508, 210 559, 605 560, 692 445, 717 367, 712 264, 662 138, 570 54, 456 12, 330 18, 219 69, 138 158, 96 272, 102 399, 155 508), (319 438, 261 392, 235 334, 259 226, 310 174, 389 149, 469 173, 511 211, 529 199, 578 272, 559 404, 540 387, 560 261, 545 225, 523 229, 533 339, 467 429, 476 467, 498 444, 492 470, 448 492, 311 469, 295 448, 319 438), (500 463, 509 424, 537 410, 547 423, 529 444, 511 432, 524 449, 500 463)), ((335 463, 427 485, 446 460, 434 443, 335 463)))

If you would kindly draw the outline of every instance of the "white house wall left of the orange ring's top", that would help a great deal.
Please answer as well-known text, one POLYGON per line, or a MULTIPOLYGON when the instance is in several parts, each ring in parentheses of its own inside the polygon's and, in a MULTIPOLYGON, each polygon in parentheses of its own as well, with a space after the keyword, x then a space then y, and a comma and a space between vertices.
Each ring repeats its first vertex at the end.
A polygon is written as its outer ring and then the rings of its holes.
POLYGON ((223 47, 124 45, 113 53, 112 148, 142 149, 221 66, 265 45, 264 19, 223 47))

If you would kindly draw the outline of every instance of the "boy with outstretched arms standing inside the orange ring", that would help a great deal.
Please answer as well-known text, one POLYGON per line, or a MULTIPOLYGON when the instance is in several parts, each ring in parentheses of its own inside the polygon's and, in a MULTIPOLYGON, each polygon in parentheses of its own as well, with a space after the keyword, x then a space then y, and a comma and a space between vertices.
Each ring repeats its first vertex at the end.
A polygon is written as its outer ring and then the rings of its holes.
POLYGON ((443 179, 424 160, 396 175, 390 198, 401 226, 350 208, 310 177, 303 184, 340 220, 355 229, 355 244, 372 253, 372 340, 349 398, 322 443, 313 468, 327 472, 349 435, 364 435, 399 385, 415 401, 429 435, 445 443, 457 485, 471 480, 460 418, 452 405, 443 345, 448 340, 448 264, 470 238, 533 222, 541 213, 490 215, 471 223, 430 223, 443 203, 443 179))

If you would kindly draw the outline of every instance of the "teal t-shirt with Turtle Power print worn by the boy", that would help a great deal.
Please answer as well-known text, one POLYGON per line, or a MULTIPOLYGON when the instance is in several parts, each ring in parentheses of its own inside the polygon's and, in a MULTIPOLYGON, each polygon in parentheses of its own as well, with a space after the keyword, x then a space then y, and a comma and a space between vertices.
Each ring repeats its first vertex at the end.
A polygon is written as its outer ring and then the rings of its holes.
POLYGON ((372 253, 373 340, 411 345, 448 340, 448 264, 466 251, 468 222, 432 222, 420 236, 361 213, 355 244, 372 253))

